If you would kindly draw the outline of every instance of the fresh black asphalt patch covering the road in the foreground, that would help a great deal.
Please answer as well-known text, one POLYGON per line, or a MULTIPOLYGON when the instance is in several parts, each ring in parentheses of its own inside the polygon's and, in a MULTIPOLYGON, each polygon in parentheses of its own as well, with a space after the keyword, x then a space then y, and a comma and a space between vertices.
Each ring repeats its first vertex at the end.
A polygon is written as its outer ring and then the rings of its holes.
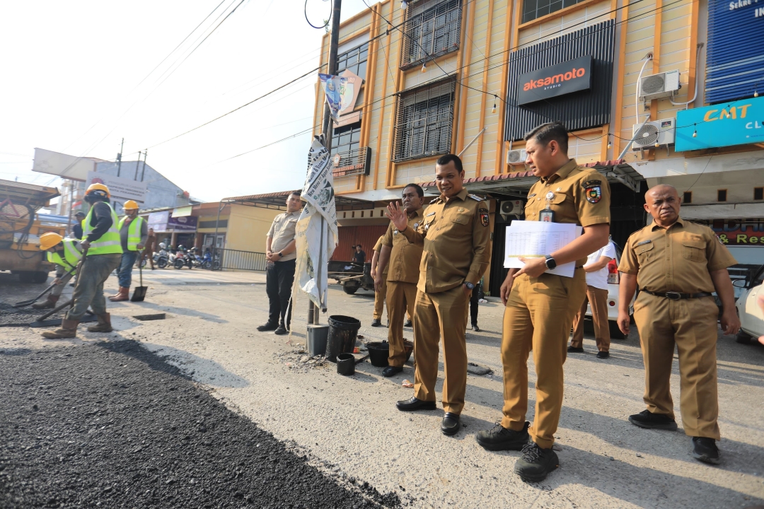
POLYGON ((0 350, 3 509, 399 505, 325 475, 134 341, 0 350))

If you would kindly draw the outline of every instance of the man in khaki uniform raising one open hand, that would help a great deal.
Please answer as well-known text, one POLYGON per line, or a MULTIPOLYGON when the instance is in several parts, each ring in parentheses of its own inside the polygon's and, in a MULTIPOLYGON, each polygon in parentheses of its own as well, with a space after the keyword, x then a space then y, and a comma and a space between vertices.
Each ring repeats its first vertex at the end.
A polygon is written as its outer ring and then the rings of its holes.
POLYGON ((387 206, 387 217, 410 243, 423 243, 414 306, 414 396, 398 401, 401 411, 435 409, 438 343, 443 334, 443 409, 441 431, 454 435, 461 426, 467 388, 467 306, 472 289, 488 266, 488 206, 464 188, 465 171, 454 154, 435 163, 441 195, 427 208, 422 224, 409 226, 406 209, 387 206))

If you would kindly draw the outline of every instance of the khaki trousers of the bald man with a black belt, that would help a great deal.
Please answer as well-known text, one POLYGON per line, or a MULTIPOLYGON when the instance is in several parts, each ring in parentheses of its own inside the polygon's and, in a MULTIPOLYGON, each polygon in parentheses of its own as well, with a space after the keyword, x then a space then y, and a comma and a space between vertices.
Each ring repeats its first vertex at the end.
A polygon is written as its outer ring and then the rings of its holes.
POLYGON ((720 440, 717 396, 717 316, 712 297, 670 301, 639 294, 634 321, 645 362, 645 403, 653 414, 674 417, 669 379, 679 352, 681 423, 690 437, 720 440))

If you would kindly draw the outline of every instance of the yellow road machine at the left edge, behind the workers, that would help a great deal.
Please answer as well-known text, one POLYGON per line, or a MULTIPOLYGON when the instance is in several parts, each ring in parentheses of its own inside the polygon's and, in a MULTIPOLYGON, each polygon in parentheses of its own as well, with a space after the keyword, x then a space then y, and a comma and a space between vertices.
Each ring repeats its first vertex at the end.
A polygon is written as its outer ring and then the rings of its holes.
POLYGON ((40 235, 63 236, 66 227, 40 224, 37 211, 57 196, 57 188, 0 180, 0 270, 18 274, 21 282, 47 280, 54 266, 40 251, 40 235))

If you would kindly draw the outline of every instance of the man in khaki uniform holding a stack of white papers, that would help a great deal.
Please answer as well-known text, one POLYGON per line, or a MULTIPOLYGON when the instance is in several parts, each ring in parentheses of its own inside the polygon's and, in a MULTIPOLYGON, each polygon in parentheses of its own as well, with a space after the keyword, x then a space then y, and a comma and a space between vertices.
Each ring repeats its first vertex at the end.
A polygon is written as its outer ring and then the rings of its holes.
POLYGON ((522 450, 515 472, 524 481, 538 482, 558 466, 552 444, 562 409, 562 364, 573 317, 586 295, 584 263, 591 250, 607 243, 610 232, 610 186, 599 172, 568 158, 568 131, 561 123, 542 124, 525 139, 526 164, 540 177, 528 193, 526 221, 579 224, 584 233, 545 258, 520 258, 523 269, 510 269, 501 285, 507 306, 501 342, 504 417, 475 438, 485 449, 522 450), (572 278, 546 273, 570 262, 576 267, 572 278), (536 365, 536 417, 529 429, 530 350, 536 365))

